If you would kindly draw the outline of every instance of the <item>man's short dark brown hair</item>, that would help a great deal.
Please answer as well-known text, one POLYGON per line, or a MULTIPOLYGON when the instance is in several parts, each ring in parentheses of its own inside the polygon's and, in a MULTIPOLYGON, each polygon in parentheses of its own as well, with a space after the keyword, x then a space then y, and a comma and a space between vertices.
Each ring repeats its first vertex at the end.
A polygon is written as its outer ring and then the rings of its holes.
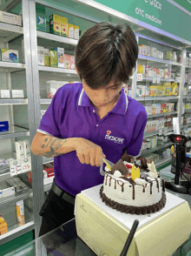
POLYGON ((91 89, 109 84, 111 79, 127 83, 138 57, 135 34, 128 24, 95 24, 76 47, 76 69, 91 89))

